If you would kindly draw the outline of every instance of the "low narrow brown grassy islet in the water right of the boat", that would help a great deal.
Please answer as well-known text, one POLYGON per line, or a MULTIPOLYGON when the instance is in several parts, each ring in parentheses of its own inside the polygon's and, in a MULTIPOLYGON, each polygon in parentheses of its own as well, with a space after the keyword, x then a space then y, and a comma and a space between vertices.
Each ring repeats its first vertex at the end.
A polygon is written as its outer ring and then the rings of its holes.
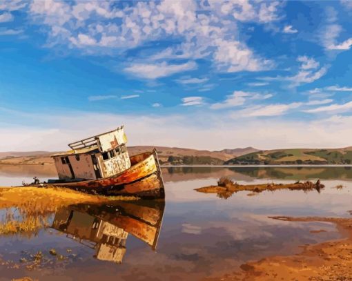
POLYGON ((313 182, 295 182, 293 184, 237 184, 227 177, 221 177, 217 181, 217 186, 204 186, 201 188, 195 188, 195 191, 202 193, 217 193, 219 197, 228 198, 233 193, 238 191, 251 191, 253 193, 260 193, 262 191, 276 191, 279 189, 289 189, 291 191, 302 190, 302 191, 313 191, 320 192, 320 189, 324 188, 323 184, 320 184, 320 180, 316 183, 313 182))

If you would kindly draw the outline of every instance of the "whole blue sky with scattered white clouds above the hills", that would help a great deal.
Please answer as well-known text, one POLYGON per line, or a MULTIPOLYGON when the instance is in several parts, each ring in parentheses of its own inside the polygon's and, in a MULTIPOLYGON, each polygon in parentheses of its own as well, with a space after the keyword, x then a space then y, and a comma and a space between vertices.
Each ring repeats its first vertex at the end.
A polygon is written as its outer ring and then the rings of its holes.
POLYGON ((0 1, 0 151, 352 146, 352 1, 0 1))

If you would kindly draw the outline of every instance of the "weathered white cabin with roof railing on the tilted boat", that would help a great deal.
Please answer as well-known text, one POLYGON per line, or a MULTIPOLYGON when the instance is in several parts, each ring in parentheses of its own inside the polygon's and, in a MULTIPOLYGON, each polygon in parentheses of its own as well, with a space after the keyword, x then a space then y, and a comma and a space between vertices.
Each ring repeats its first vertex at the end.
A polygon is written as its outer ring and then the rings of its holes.
POLYGON ((71 151, 52 155, 60 180, 95 180, 130 168, 124 126, 68 144, 71 151))

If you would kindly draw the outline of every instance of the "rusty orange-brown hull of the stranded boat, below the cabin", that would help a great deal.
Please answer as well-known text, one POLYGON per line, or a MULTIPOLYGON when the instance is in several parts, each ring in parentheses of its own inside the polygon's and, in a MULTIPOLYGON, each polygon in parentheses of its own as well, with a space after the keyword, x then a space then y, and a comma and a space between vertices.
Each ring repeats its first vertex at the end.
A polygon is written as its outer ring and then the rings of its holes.
POLYGON ((49 180, 37 186, 57 186, 99 195, 126 195, 147 199, 164 198, 164 182, 156 150, 130 157, 126 171, 97 180, 49 180))

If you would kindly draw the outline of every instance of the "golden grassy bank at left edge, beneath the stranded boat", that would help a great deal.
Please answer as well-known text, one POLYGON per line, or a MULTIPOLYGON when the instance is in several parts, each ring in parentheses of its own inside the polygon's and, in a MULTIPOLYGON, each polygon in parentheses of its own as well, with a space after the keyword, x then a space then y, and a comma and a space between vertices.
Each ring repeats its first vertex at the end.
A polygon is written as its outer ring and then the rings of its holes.
POLYGON ((89 195, 68 188, 0 188, 0 209, 6 209, 0 222, 0 234, 21 233, 31 237, 39 229, 48 226, 48 218, 59 208, 71 204, 104 204, 117 200, 137 200, 137 197, 89 195))

